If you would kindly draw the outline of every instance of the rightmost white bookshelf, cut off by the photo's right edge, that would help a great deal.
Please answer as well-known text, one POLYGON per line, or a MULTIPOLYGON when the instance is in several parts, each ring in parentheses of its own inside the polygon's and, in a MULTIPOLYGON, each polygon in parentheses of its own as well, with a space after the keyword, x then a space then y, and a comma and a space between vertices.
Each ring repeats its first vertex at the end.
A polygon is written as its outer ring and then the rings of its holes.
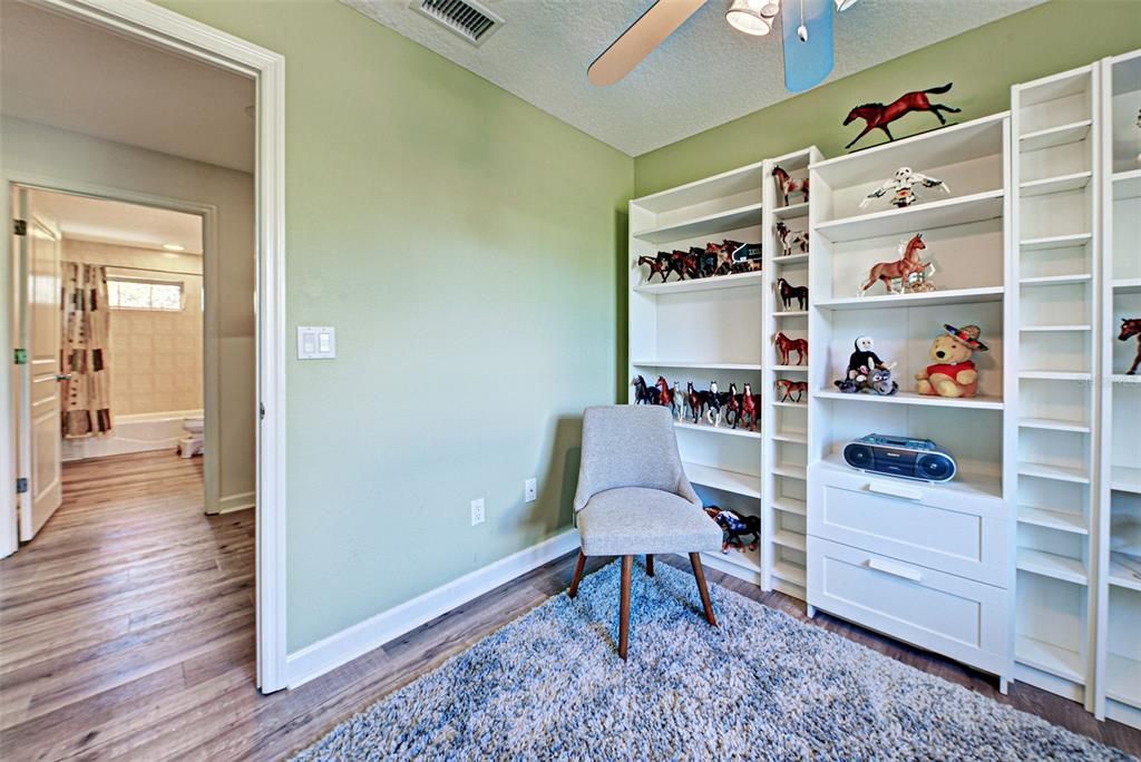
POLYGON ((1101 161, 1100 463, 1095 559, 1094 714, 1141 728, 1141 375, 1126 375, 1138 338, 1118 340, 1141 317, 1141 51, 1100 66, 1101 161))

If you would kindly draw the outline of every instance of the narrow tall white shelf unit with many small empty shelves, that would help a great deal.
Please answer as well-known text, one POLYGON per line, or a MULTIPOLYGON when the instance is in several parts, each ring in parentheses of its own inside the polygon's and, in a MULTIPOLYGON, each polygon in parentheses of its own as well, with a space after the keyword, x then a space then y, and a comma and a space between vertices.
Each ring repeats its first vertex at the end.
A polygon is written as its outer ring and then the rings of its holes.
POLYGON ((1014 676, 1093 710, 1100 232, 1097 65, 1011 89, 1018 465, 1014 676))

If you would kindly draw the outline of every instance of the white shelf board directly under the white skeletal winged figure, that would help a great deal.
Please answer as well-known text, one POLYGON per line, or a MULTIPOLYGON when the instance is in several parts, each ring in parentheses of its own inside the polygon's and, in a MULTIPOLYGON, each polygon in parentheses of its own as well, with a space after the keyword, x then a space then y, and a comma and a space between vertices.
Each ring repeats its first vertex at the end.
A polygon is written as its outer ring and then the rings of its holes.
POLYGON ((1002 217, 1002 189, 986 190, 957 198, 917 203, 906 209, 888 209, 822 222, 816 226, 816 234, 832 243, 845 243, 981 222, 1002 217))

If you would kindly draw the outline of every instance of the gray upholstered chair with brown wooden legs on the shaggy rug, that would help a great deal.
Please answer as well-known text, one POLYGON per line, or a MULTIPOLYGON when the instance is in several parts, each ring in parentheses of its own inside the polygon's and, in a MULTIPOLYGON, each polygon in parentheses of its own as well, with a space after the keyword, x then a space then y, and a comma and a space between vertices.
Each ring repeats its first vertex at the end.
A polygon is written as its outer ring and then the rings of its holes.
POLYGON ((705 618, 717 626, 698 553, 721 548, 721 528, 702 510, 686 478, 669 408, 586 408, 574 510, 582 550, 567 591, 570 598, 578 593, 588 556, 622 557, 618 656, 626 658, 636 554, 646 554, 646 574, 654 576, 655 553, 688 553, 705 618))

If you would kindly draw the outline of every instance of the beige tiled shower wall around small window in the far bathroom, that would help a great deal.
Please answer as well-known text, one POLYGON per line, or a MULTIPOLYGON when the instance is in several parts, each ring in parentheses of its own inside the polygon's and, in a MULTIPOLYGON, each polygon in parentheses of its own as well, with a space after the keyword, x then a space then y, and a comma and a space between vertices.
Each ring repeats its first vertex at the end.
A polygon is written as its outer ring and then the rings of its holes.
POLYGON ((113 415, 202 410, 202 257, 64 238, 64 259, 183 283, 183 310, 111 313, 113 415), (163 273, 116 269, 114 265, 163 273))

